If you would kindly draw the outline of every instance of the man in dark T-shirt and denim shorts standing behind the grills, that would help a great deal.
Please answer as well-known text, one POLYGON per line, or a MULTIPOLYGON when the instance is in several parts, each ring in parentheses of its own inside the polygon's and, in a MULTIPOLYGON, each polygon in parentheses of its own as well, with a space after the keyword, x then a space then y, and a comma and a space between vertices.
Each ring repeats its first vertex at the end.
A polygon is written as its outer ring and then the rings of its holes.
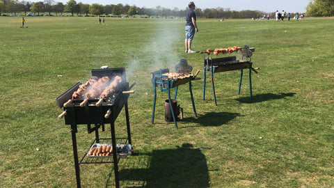
POLYGON ((191 49, 191 42, 193 40, 193 36, 195 35, 195 31, 198 32, 196 25, 196 13, 193 11, 196 6, 193 1, 191 1, 188 6, 189 10, 186 11, 186 53, 196 53, 191 49))

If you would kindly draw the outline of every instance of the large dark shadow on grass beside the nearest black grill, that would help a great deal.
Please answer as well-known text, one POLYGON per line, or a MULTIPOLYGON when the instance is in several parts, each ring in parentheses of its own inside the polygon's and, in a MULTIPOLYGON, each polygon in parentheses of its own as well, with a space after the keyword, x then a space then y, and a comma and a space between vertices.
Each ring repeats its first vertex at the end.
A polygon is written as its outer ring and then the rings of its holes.
POLYGON ((128 187, 209 187, 207 160, 201 150, 190 143, 176 147, 138 153, 148 155, 148 168, 122 169, 120 181, 127 181, 128 187))

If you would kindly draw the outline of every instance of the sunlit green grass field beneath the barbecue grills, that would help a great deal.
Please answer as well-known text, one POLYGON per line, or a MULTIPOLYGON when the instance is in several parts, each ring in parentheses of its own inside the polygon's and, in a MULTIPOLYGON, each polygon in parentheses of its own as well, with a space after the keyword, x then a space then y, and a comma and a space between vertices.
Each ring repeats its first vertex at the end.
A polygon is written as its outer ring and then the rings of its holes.
MULTIPOLYGON (((216 73, 217 106, 207 79, 177 102, 184 119, 164 121, 157 93, 154 125, 150 71, 186 58, 202 78, 204 54, 184 54, 184 20, 94 17, 0 17, 0 187, 76 187, 70 126, 56 97, 109 65, 136 81, 129 97, 135 155, 120 162, 122 187, 334 187, 334 36, 332 17, 199 19, 193 49, 255 47, 237 95, 239 71, 216 73)), ((241 54, 232 54, 241 58, 241 54)), ((213 55, 211 55, 214 58, 213 55)), ((223 57, 228 55, 219 55, 223 57)), ((126 133, 124 110, 116 136, 126 133)), ((109 127, 100 132, 110 134, 109 127)), ((79 155, 94 134, 79 126, 79 155)), ((81 164, 82 187, 113 187, 112 164, 81 164)))

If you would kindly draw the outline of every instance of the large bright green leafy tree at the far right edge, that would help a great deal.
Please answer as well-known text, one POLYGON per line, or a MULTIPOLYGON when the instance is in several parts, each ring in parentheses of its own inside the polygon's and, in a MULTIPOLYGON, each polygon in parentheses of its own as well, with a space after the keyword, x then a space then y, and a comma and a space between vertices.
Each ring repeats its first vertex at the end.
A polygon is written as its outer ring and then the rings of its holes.
POLYGON ((308 16, 333 16, 334 0, 313 0, 306 7, 308 16))

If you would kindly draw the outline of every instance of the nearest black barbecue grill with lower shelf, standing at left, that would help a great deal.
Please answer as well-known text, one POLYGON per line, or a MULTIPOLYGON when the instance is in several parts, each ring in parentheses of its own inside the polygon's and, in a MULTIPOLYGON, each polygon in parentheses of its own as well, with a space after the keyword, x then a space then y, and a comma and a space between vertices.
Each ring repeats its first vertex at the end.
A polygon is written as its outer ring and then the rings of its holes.
POLYGON ((118 90, 116 91, 116 93, 113 94, 111 97, 102 100, 102 103, 100 105, 96 105, 99 101, 99 99, 97 98, 88 100, 88 103, 86 103, 83 107, 80 104, 81 102, 83 102, 84 99, 72 100, 72 94, 74 93, 74 91, 77 91, 77 89, 81 85, 81 83, 78 82, 65 93, 59 95, 59 97, 56 98, 58 107, 61 107, 64 110, 59 118, 65 117, 65 125, 71 125, 77 187, 81 187, 79 165, 101 163, 113 163, 116 187, 119 187, 118 161, 120 159, 121 152, 119 152, 118 149, 120 147, 118 146, 122 144, 122 146, 124 145, 127 146, 127 148, 132 149, 127 100, 129 97, 129 93, 133 93, 129 90, 134 84, 129 87, 129 83, 126 82, 125 68, 106 68, 92 70, 92 76, 98 78, 109 77, 111 79, 119 76, 122 77, 122 82, 120 83, 120 86, 118 86, 118 90), (125 117, 127 121, 127 136, 125 136, 124 138, 116 138, 114 123, 116 118, 120 114, 120 111, 122 111, 123 107, 125 107, 125 117), (104 131, 104 124, 106 123, 109 123, 111 126, 111 137, 103 139, 99 136, 99 129, 100 127, 102 127, 102 131, 104 131), (86 152, 82 159, 79 161, 76 137, 77 125, 87 125, 88 133, 95 132, 95 139, 90 145, 90 148, 97 143, 106 143, 116 149, 112 151, 110 156, 106 157, 89 157, 86 152))

